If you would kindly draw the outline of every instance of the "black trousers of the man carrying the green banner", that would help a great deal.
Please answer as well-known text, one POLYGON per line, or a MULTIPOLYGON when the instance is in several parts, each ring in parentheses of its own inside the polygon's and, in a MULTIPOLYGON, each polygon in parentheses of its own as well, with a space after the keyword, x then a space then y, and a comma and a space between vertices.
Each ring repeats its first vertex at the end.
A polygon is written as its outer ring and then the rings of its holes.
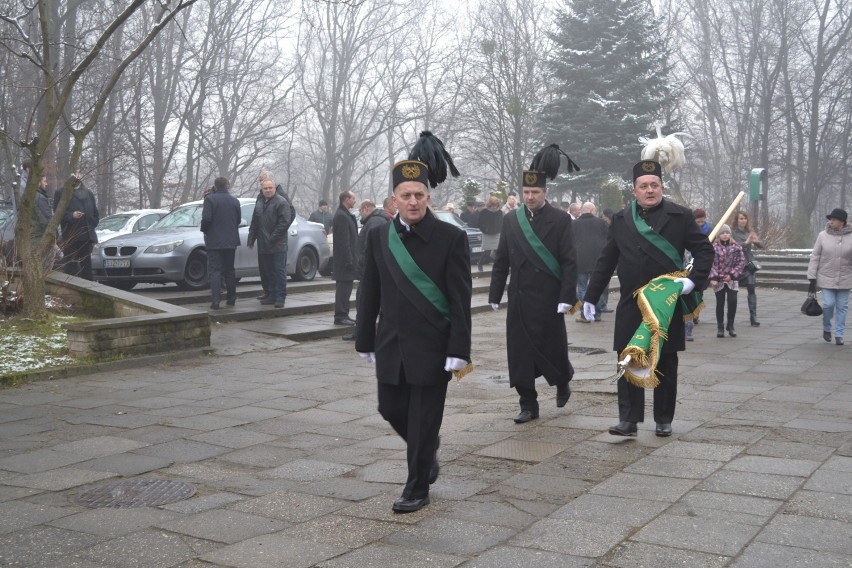
MULTIPOLYGON (((654 422, 671 424, 677 401, 677 352, 662 353, 657 364, 660 385, 654 389, 654 422)), ((621 422, 645 421, 645 389, 627 381, 618 381, 618 419, 621 422)))

